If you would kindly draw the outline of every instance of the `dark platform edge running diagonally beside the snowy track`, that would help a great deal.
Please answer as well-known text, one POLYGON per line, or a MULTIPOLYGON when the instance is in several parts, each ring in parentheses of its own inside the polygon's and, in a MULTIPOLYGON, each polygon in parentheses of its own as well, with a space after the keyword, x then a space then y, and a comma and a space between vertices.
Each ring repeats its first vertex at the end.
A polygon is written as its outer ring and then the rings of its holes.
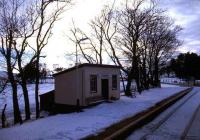
POLYGON ((136 115, 126 118, 116 124, 106 128, 98 135, 89 135, 84 140, 110 140, 110 139, 124 139, 127 135, 131 134, 133 130, 145 125, 159 115, 162 111, 174 104, 176 101, 189 93, 192 88, 187 88, 180 91, 148 108, 145 111, 139 112, 136 115))

